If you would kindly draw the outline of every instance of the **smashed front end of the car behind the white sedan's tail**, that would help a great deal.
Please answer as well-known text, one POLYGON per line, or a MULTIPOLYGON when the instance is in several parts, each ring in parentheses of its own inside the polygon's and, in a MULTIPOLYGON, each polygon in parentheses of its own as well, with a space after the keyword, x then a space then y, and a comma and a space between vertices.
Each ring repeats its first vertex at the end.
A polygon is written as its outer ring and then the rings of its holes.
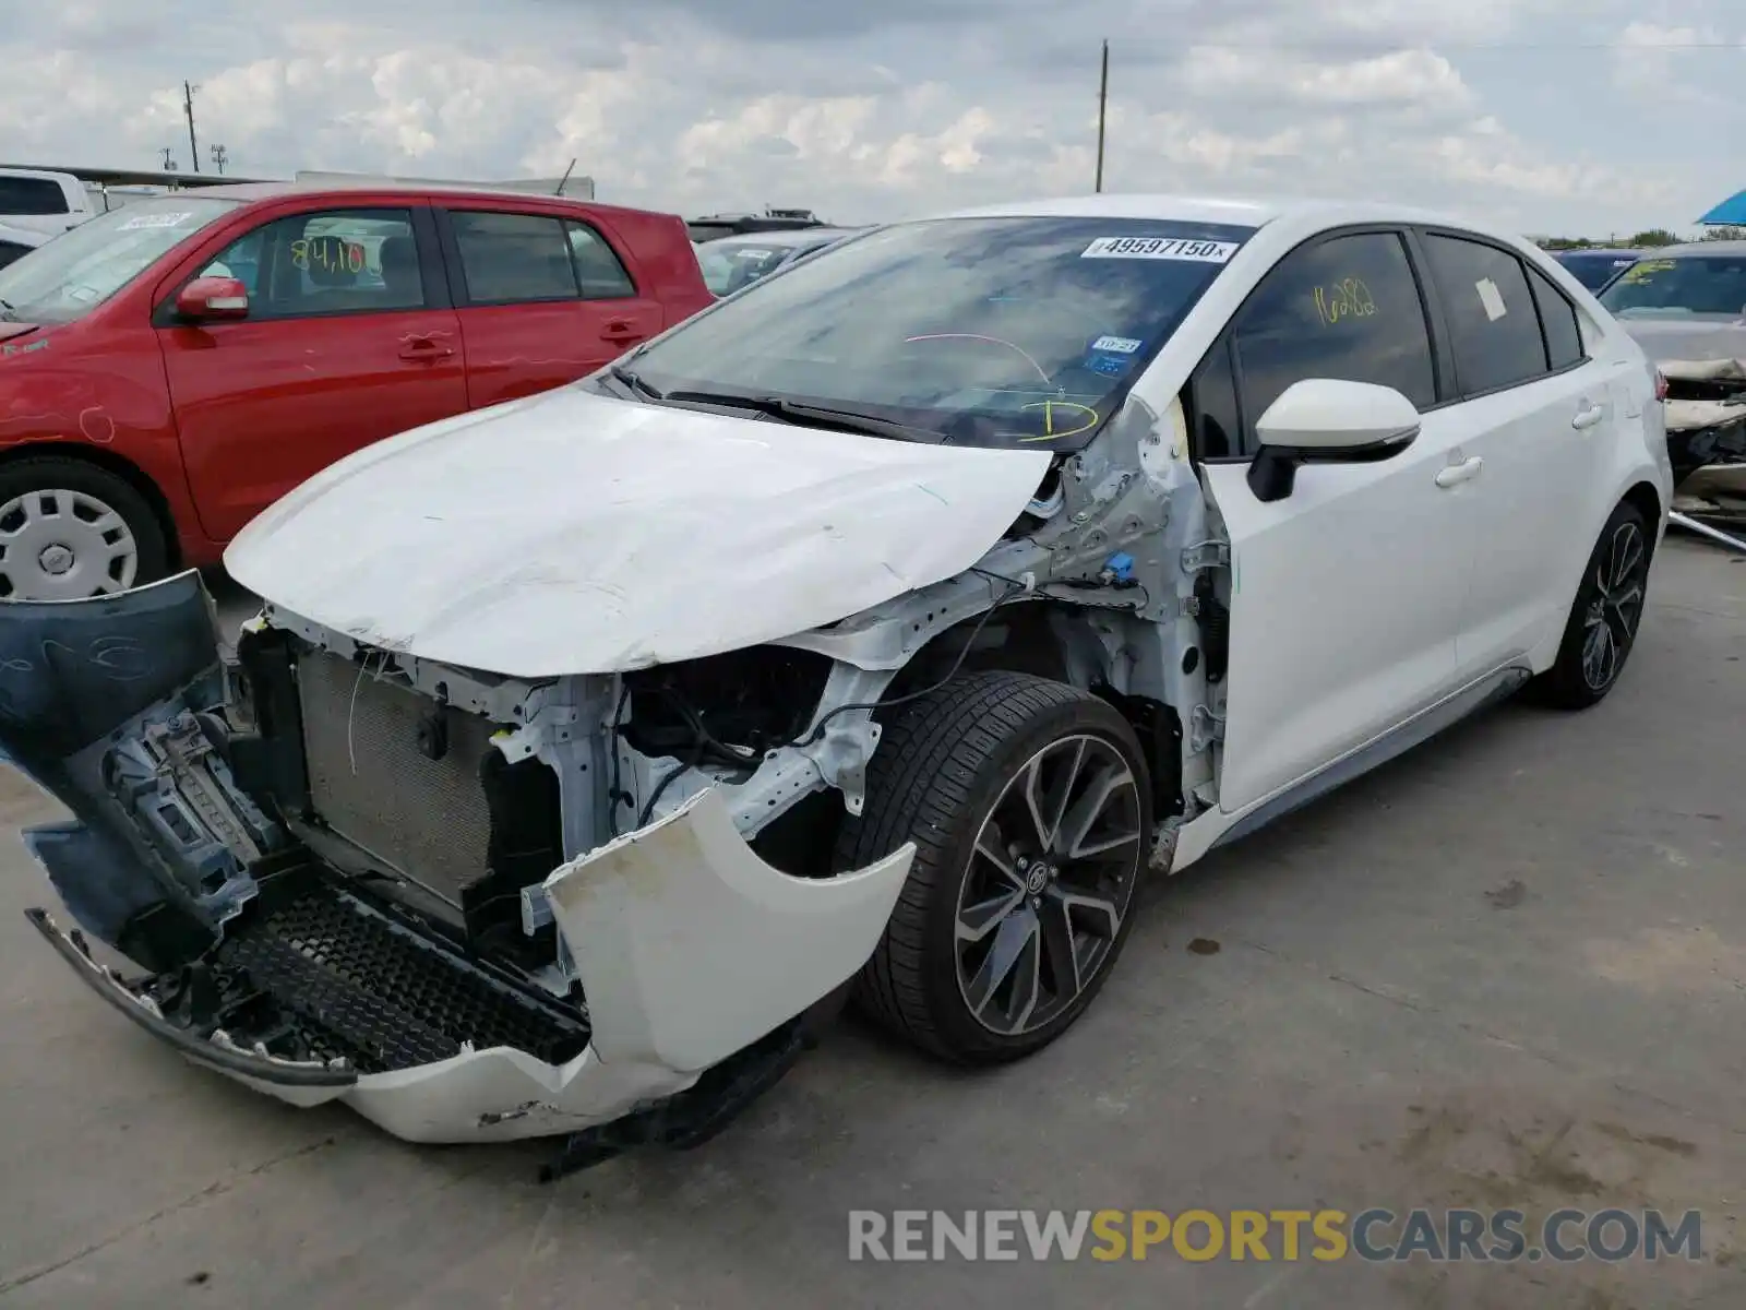
POLYGON ((1746 548, 1746 362, 1664 360, 1674 522, 1746 548))

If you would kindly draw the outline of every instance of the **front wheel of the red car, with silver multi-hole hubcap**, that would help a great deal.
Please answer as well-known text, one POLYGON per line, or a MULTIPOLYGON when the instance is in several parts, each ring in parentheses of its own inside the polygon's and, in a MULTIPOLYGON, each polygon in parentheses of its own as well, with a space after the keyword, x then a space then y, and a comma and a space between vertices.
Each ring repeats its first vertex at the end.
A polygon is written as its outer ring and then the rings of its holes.
POLYGON ((63 456, 0 465, 0 599, 73 601, 168 571, 162 524, 124 479, 63 456))

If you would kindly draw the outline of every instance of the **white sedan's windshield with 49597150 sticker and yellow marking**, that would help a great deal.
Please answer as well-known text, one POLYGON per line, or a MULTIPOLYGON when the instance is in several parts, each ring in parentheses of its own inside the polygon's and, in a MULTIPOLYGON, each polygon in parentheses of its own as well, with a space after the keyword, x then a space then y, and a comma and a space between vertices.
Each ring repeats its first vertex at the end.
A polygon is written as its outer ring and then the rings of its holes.
POLYGON ((1142 218, 899 224, 789 264, 623 363, 660 391, 791 400, 960 445, 1077 451, 1252 232, 1142 218))

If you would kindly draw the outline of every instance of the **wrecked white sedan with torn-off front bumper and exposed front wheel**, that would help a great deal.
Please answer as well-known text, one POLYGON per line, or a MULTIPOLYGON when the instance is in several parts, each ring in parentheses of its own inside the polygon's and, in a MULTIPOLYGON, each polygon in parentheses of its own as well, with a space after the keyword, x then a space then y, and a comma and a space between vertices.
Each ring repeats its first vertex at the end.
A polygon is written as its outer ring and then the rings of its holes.
POLYGON ((12 604, 0 741, 82 821, 30 840, 140 975, 33 919, 197 1064, 419 1141, 695 1141, 845 994, 1009 1060, 1149 868, 1605 697, 1669 496, 1643 351, 1505 232, 883 227, 314 477, 227 554, 229 679, 194 575, 12 604))

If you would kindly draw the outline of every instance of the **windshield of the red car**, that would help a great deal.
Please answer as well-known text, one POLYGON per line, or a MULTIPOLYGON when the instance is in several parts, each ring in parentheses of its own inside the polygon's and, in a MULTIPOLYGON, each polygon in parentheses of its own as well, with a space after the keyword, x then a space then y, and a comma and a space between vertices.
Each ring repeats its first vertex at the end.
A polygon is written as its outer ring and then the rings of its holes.
POLYGON ((70 323, 237 204, 210 196, 164 196, 80 224, 0 269, 0 300, 10 306, 0 314, 31 323, 70 323))

